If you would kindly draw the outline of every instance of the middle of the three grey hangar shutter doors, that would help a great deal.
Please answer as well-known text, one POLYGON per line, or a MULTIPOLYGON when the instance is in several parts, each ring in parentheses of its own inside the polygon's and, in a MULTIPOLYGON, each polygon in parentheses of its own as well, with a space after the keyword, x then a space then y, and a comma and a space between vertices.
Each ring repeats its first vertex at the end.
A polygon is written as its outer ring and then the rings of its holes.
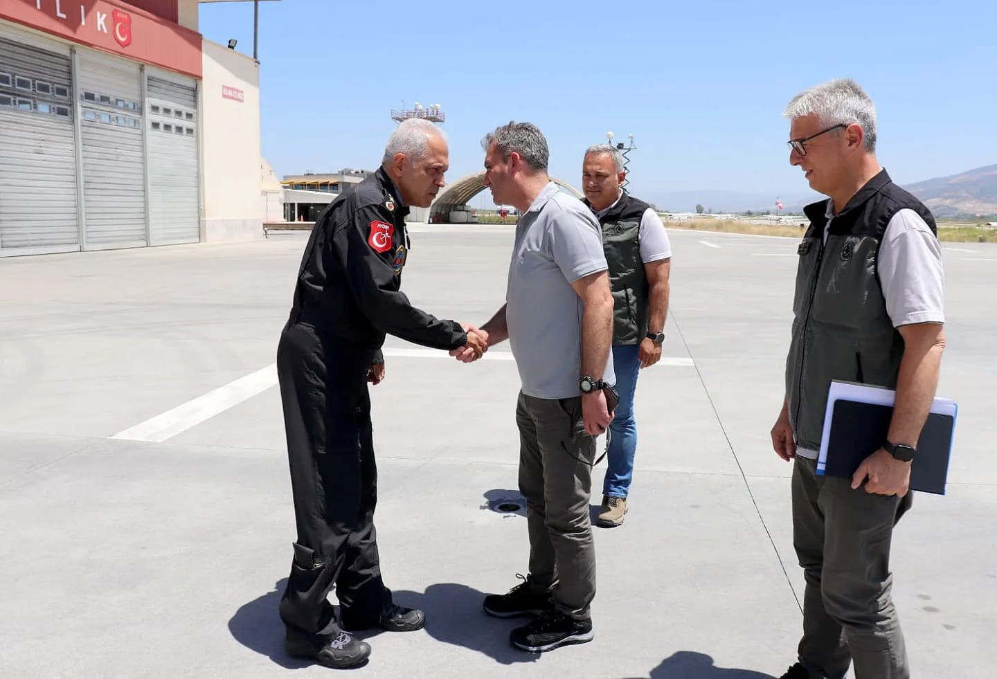
POLYGON ((84 248, 147 245, 142 72, 124 59, 78 54, 84 248))

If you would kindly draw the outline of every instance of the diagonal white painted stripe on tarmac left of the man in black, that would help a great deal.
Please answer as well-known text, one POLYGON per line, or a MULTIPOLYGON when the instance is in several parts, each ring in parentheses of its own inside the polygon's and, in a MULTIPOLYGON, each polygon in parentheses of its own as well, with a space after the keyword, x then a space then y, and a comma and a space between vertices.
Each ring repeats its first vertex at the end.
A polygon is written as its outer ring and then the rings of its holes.
POLYGON ((275 384, 277 384, 277 366, 270 364, 262 370, 240 377, 224 387, 209 391, 111 438, 163 443, 166 439, 171 439, 257 394, 262 394, 275 384))

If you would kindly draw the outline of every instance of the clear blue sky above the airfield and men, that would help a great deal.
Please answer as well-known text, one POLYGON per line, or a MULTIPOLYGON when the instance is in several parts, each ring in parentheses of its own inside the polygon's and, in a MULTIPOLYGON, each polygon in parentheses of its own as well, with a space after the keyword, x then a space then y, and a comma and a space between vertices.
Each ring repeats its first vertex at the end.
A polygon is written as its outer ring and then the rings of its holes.
MULTIPOLYGON (((252 3, 201 5, 200 30, 251 54, 252 3)), ((638 196, 801 195, 782 110, 851 77, 876 103, 880 163, 909 183, 997 164, 995 36, 993 0, 261 2, 262 149, 278 175, 373 169, 390 110, 418 101, 447 114, 450 180, 516 120, 576 185, 611 130, 635 136, 638 196)))

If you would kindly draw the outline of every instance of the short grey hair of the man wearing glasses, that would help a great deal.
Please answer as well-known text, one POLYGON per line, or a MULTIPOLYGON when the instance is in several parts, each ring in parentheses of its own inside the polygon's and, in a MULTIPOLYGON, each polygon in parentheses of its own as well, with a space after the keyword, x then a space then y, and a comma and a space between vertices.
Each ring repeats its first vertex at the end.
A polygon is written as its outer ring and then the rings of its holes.
POLYGON ((823 85, 804 90, 787 105, 783 112, 791 121, 813 116, 822 125, 861 126, 865 151, 875 153, 875 105, 858 83, 850 78, 837 78, 823 85))

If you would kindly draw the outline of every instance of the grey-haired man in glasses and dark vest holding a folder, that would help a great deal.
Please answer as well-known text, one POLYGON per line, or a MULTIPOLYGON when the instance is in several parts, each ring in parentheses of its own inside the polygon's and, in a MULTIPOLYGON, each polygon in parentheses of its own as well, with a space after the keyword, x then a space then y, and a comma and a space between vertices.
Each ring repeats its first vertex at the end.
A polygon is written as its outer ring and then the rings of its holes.
POLYGON ((790 163, 830 199, 808 205, 786 399, 772 443, 793 469, 793 542, 807 582, 798 662, 783 679, 908 679, 890 596, 893 526, 945 346, 941 248, 931 212, 875 158, 875 108, 850 80, 806 90, 784 114, 790 163), (889 431, 852 479, 817 474, 831 380, 896 390, 889 431))

